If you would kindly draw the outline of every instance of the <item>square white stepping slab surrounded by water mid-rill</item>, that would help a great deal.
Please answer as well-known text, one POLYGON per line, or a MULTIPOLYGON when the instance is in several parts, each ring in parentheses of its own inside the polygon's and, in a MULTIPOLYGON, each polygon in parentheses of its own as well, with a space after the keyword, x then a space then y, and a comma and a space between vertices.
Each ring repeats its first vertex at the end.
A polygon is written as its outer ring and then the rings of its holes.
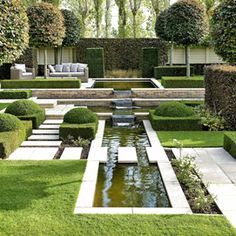
POLYGON ((138 157, 135 147, 119 147, 118 148, 119 163, 137 163, 138 157))

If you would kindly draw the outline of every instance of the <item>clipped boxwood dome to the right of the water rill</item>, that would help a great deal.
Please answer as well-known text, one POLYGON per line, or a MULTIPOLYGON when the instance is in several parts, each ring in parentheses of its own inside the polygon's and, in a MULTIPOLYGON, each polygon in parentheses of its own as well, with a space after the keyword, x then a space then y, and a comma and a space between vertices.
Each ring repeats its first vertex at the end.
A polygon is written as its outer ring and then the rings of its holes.
POLYGON ((155 115, 166 117, 187 117, 195 113, 191 107, 180 102, 165 102, 155 110, 155 115))

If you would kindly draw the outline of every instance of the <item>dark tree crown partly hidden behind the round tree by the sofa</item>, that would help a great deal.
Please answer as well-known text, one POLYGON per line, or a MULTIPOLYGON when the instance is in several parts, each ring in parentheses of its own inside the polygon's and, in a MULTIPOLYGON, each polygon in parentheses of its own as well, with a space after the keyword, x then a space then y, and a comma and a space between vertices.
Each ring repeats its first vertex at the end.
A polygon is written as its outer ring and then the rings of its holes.
POLYGON ((75 46, 79 41, 80 22, 76 15, 69 10, 61 10, 64 17, 64 25, 66 28, 65 38, 63 39, 63 46, 75 46))

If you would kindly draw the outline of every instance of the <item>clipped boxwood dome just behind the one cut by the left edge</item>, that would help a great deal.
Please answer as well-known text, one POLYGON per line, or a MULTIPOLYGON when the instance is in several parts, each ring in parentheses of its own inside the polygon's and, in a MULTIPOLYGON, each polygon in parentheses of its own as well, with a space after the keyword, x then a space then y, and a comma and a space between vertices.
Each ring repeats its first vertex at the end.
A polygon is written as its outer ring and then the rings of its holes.
POLYGON ((42 112, 43 109, 35 102, 27 99, 21 99, 11 103, 5 110, 5 113, 9 113, 15 116, 33 115, 38 112, 42 112))

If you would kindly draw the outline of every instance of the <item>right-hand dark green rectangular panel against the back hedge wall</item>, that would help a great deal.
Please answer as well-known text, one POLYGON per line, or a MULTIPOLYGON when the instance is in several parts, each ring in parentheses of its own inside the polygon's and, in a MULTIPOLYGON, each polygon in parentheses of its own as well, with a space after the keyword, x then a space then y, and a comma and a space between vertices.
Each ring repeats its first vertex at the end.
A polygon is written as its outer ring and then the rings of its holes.
POLYGON ((154 67, 159 66, 159 52, 158 48, 143 48, 142 49, 142 77, 152 78, 154 77, 154 67))

